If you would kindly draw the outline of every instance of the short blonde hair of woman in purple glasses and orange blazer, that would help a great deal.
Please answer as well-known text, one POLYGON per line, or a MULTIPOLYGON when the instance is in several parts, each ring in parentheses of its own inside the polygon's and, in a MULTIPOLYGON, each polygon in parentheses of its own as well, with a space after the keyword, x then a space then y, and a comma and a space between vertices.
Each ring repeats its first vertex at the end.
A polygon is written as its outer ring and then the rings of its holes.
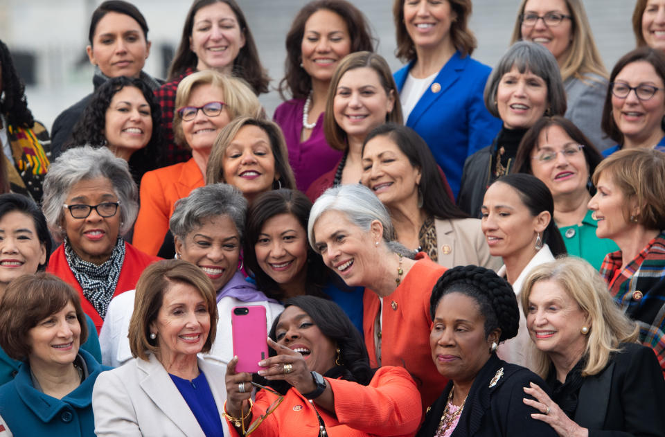
POLYGON ((180 82, 175 94, 173 135, 177 145, 188 146, 182 132, 182 118, 178 113, 178 109, 186 106, 192 91, 203 84, 210 84, 222 90, 224 107, 226 107, 231 120, 238 116, 259 116, 263 112, 263 107, 261 107, 256 94, 245 80, 223 75, 215 70, 197 71, 180 82))

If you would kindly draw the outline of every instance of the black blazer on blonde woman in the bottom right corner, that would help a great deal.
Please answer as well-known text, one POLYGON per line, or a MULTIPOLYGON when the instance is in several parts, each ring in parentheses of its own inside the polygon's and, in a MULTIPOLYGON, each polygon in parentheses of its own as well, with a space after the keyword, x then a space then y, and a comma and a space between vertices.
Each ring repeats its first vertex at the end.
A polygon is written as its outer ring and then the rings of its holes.
POLYGON ((665 436, 665 380, 651 348, 621 344, 601 373, 585 377, 574 414, 592 436, 665 436))

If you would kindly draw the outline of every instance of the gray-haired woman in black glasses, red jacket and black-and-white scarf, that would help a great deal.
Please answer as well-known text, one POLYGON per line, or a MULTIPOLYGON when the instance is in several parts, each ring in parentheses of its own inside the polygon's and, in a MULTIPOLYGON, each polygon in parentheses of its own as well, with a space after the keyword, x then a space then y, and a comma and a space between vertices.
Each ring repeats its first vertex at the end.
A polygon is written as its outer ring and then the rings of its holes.
POLYGON ((143 269, 159 259, 122 237, 139 209, 127 161, 107 148, 63 152, 44 179, 42 208, 53 237, 62 241, 46 271, 79 292, 99 331, 113 296, 134 289, 143 269))

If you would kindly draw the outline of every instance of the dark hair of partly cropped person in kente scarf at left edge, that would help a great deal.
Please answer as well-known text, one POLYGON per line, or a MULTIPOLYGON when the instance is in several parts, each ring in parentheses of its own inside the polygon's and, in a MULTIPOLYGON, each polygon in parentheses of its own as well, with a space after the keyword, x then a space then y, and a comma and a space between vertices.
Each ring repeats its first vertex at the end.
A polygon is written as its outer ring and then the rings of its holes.
POLYGON ((30 129, 35 124, 35 118, 28 109, 26 85, 14 67, 14 60, 12 60, 9 48, 1 39, 0 68, 2 69, 0 94, 4 93, 4 97, 0 100, 0 114, 6 118, 9 125, 30 129))

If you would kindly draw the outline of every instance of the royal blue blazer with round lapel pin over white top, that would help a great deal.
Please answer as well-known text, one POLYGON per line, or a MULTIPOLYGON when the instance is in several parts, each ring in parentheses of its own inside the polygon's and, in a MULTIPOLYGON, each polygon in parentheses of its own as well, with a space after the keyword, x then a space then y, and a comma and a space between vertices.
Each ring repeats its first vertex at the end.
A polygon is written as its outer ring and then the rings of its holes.
MULTIPOLYGON (((410 62, 393 76, 401 92, 410 62)), ((466 157, 492 143, 502 121, 485 107, 483 91, 490 67, 457 51, 438 72, 409 114, 406 125, 423 137, 436 163, 443 169, 455 197, 459 192, 466 157)))

